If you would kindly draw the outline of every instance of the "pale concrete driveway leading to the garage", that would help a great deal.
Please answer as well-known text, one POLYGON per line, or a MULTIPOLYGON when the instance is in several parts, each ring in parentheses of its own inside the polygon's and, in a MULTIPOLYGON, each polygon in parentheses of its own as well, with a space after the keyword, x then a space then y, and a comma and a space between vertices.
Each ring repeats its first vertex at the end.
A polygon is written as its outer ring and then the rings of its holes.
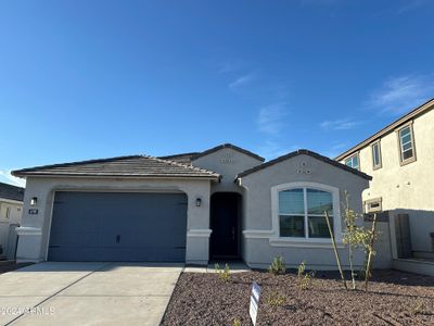
POLYGON ((46 262, 0 275, 0 325, 158 325, 181 264, 46 262))

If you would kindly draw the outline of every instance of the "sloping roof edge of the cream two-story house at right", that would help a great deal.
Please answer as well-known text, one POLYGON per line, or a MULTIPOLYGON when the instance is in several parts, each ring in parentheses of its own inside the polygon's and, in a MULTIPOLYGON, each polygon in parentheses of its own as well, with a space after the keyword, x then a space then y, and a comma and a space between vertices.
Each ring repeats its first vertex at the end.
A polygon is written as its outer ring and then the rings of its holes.
POLYGON ((334 160, 341 161, 341 160, 345 159, 346 156, 348 156, 348 155, 353 154, 354 152, 360 150, 361 148, 368 146, 372 141, 383 137, 384 135, 387 135, 387 134, 394 131, 400 125, 408 123, 409 121, 426 113, 427 111, 430 111, 432 109, 434 109, 434 99, 431 99, 430 101, 423 103, 422 105, 411 110, 406 115, 399 117, 398 120, 394 121, 392 124, 385 126, 380 131, 373 134, 371 137, 365 139, 363 141, 359 142, 358 145, 352 147, 349 150, 337 155, 334 160))

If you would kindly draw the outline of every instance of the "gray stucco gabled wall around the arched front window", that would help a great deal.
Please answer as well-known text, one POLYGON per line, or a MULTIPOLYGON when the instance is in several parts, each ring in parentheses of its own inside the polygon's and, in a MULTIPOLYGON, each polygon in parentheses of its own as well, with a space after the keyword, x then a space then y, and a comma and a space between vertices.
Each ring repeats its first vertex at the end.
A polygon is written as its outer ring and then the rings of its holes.
MULTIPOLYGON (((305 154, 246 175, 241 179, 241 185, 246 189, 244 200, 247 218, 244 221, 242 247, 244 261, 252 267, 263 268, 275 256, 282 255, 289 266, 295 267, 305 261, 309 268, 335 269, 330 240, 295 241, 278 238, 278 230, 273 228, 271 218, 271 188, 288 183, 314 183, 337 188, 337 202, 342 202, 346 190, 350 196, 349 205, 356 212, 362 210, 361 192, 368 187, 368 180, 360 176, 305 154)), ((340 208, 335 209, 340 211, 340 208)), ((344 225, 337 227, 342 230, 344 225)), ((340 239, 336 241, 343 265, 347 268, 347 250, 344 250, 340 239)), ((355 263, 361 265, 362 262, 363 254, 358 252, 355 263)))

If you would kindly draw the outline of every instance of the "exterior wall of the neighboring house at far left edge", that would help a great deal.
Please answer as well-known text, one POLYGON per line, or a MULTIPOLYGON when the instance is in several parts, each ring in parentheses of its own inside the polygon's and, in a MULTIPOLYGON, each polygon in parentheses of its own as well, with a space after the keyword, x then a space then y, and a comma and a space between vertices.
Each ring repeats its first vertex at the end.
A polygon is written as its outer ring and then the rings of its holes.
POLYGON ((0 198, 0 244, 3 248, 1 255, 9 252, 9 228, 11 224, 20 224, 23 213, 23 203, 15 200, 0 198), (7 210, 10 209, 9 218, 7 218, 7 210))

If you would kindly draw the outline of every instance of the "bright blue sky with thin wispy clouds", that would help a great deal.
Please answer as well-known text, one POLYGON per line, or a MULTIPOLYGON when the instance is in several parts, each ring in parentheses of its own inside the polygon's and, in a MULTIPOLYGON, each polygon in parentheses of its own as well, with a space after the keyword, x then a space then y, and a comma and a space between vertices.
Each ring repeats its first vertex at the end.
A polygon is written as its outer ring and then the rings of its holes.
POLYGON ((434 97, 433 14, 430 0, 2 1, 0 180, 222 142, 334 156, 434 97))

